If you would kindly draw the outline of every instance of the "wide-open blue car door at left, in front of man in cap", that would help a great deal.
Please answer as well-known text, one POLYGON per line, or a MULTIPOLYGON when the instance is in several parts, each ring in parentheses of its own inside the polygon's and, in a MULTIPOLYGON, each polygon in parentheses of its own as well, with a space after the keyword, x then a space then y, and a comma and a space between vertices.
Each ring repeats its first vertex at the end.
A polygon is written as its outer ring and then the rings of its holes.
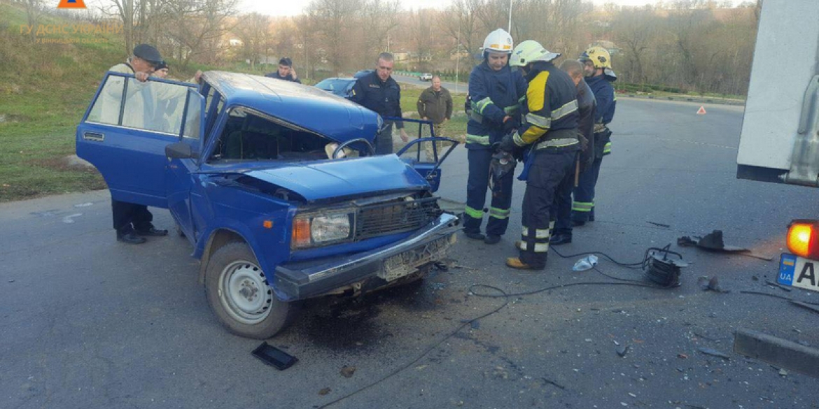
MULTIPOLYGON (((192 83, 109 72, 77 127, 77 155, 102 173, 111 197, 167 208, 165 146, 179 141, 192 83)), ((199 132, 197 130, 197 132, 199 132)))

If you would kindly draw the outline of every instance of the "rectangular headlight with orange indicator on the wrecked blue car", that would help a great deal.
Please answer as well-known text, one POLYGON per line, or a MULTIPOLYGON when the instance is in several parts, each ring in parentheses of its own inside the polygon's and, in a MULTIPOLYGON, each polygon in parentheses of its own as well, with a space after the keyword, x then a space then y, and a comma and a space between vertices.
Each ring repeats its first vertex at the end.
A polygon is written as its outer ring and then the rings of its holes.
POLYGON ((355 213, 305 214, 293 220, 291 247, 305 248, 351 239, 355 213))

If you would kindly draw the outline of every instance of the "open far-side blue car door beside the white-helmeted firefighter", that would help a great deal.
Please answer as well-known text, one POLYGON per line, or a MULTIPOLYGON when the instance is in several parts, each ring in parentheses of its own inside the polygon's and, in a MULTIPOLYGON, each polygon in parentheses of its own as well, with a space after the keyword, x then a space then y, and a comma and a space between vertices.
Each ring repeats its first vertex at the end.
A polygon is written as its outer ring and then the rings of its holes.
POLYGON ((404 160, 407 164, 413 167, 416 172, 420 173, 423 178, 427 179, 429 182, 429 186, 432 187, 432 191, 435 192, 438 190, 438 187, 441 187, 441 164, 446 160, 447 156, 455 150, 455 146, 458 146, 460 142, 455 141, 455 139, 451 139, 448 137, 436 137, 435 136, 435 128, 432 126, 432 122, 419 120, 419 119, 397 119, 397 118, 385 118, 391 120, 403 120, 405 123, 415 123, 418 124, 418 137, 409 143, 406 144, 400 151, 396 152, 401 160, 404 160), (423 128, 429 127, 429 134, 430 137, 422 137, 423 135, 423 128), (450 146, 443 146, 441 149, 438 149, 438 144, 435 142, 450 142, 450 146), (432 157, 428 157, 428 155, 422 154, 421 150, 425 144, 430 144, 432 148, 432 157))

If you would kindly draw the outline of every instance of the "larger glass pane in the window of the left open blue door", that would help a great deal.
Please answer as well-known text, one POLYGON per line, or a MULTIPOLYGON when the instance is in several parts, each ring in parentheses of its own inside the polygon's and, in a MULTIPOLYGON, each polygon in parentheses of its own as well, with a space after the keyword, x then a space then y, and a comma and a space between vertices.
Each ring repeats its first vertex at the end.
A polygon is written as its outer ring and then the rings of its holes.
POLYGON ((122 125, 179 135, 188 87, 129 78, 122 125))

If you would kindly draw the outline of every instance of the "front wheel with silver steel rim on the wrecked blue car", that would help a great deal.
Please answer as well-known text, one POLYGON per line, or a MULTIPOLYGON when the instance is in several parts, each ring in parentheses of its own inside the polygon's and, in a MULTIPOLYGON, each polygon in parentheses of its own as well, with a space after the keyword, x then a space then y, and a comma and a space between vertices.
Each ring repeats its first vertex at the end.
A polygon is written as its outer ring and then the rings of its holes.
POLYGON ((276 297, 268 278, 244 243, 229 243, 211 256, 205 272, 206 298, 233 334, 268 339, 295 315, 296 308, 276 297))

